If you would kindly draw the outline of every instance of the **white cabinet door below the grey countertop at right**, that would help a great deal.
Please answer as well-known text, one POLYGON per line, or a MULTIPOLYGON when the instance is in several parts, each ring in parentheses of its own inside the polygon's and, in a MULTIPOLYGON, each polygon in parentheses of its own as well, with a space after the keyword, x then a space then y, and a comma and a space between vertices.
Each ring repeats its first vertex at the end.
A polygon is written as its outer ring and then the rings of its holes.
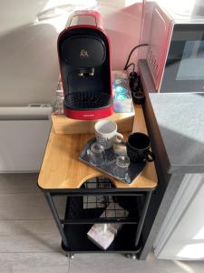
POLYGON ((155 255, 204 259, 204 176, 184 177, 154 242, 155 255))

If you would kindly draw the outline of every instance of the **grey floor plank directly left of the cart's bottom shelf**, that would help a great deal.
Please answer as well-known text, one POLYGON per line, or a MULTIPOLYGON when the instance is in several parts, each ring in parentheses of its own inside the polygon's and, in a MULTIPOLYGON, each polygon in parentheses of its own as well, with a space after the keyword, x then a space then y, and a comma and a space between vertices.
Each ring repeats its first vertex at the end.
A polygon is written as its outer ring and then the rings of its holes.
POLYGON ((0 220, 0 252, 61 250, 61 238, 50 220, 0 220))

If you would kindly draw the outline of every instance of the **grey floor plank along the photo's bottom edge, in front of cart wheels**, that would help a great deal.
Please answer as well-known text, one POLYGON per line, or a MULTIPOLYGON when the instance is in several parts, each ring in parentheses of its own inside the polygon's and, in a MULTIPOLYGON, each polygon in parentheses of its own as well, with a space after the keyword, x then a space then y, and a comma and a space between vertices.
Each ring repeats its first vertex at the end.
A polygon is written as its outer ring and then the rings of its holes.
POLYGON ((153 254, 147 260, 132 260, 120 254, 76 254, 70 262, 70 273, 203 273, 204 262, 182 262, 156 259, 153 254), (96 271, 97 268, 97 271, 96 271))

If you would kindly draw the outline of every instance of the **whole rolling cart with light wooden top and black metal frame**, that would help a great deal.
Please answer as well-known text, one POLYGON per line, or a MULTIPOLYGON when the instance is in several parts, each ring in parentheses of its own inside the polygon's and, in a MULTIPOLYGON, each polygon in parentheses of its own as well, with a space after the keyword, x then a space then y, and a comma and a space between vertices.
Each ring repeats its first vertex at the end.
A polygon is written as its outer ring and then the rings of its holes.
MULTIPOLYGON (((146 133, 141 106, 137 106, 140 127, 146 133)), ((136 122, 136 121, 135 121, 136 122)), ((81 252, 120 252, 136 258, 142 248, 141 231, 151 200, 157 187, 153 162, 148 162, 141 174, 129 185, 102 173, 78 160, 91 134, 57 135, 51 130, 38 186, 53 213, 62 237, 62 248, 71 258, 81 252), (59 217, 53 197, 65 196, 66 209, 59 217), (102 212, 112 203, 112 217, 102 212), (128 214, 121 217, 115 204, 128 214), (120 216, 119 216, 120 215, 120 216), (121 223, 122 227, 107 250, 98 248, 87 237, 95 223, 121 223)))

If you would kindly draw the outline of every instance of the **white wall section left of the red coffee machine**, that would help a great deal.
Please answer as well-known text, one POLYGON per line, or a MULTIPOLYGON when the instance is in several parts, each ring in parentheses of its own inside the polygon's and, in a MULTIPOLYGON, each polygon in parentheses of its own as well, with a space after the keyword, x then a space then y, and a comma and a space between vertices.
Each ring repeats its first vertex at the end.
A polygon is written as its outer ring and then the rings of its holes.
POLYGON ((58 33, 53 25, 34 23, 47 2, 0 3, 0 106, 53 99, 58 78, 58 33))

